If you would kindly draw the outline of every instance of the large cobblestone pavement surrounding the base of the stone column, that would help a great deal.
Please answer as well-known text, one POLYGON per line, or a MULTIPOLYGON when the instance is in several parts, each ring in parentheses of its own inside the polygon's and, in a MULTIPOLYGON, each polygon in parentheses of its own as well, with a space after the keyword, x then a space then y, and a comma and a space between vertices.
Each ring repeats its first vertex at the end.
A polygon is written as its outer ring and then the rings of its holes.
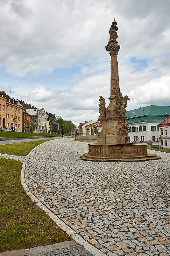
POLYGON ((1 156, 24 161, 32 193, 106 255, 170 255, 170 154, 101 163, 82 161, 86 152, 87 143, 64 139, 41 144, 30 156, 1 156))

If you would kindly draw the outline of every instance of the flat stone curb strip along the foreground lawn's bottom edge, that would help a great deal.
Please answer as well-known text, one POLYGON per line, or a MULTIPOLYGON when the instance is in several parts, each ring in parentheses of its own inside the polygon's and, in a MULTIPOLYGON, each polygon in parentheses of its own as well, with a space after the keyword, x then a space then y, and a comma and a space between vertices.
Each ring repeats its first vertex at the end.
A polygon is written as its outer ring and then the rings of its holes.
POLYGON ((33 247, 30 249, 1 252, 0 256, 27 256, 27 255, 36 254, 36 253, 53 252, 59 249, 69 248, 75 245, 77 245, 75 241, 66 241, 66 242, 61 242, 57 244, 33 247))

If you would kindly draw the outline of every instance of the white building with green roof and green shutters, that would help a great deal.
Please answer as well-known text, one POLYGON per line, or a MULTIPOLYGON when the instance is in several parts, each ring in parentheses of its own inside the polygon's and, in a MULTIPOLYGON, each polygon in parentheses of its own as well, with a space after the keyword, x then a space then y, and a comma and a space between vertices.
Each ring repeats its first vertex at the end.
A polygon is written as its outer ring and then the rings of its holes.
POLYGON ((147 106, 126 111, 129 141, 159 144, 158 124, 170 116, 170 106, 147 106))

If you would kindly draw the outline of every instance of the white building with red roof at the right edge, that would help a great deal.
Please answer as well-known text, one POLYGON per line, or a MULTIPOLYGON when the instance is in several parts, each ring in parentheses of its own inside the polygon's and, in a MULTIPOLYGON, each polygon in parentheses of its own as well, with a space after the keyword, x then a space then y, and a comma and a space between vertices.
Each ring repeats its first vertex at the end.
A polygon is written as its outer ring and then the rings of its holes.
POLYGON ((162 138, 162 147, 170 149, 170 116, 159 125, 159 135, 162 138))

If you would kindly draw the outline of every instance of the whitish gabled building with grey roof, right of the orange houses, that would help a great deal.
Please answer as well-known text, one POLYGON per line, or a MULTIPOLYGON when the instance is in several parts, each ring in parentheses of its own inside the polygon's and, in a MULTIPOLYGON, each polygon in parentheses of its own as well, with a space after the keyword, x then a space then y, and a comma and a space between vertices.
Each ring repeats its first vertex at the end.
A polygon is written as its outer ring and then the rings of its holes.
POLYGON ((48 115, 45 112, 44 108, 36 108, 36 109, 27 109, 28 114, 31 115, 31 124, 33 128, 33 132, 40 132, 40 133, 48 133, 49 128, 49 121, 48 115))

